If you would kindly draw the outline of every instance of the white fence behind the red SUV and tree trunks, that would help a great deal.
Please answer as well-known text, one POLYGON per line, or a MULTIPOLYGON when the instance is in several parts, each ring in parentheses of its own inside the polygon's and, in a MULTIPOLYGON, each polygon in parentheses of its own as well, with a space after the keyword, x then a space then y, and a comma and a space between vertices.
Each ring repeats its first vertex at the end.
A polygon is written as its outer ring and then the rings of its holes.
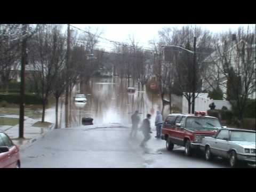
MULTIPOLYGON (((196 93, 197 95, 197 93, 196 93)), ((208 93, 199 93, 198 97, 195 99, 195 111, 207 111, 210 109, 209 105, 214 102, 215 109, 221 109, 223 106, 226 106, 229 110, 231 105, 229 101, 226 100, 213 100, 207 98, 208 93)), ((182 98, 182 113, 188 113, 188 101, 183 96, 182 98)))

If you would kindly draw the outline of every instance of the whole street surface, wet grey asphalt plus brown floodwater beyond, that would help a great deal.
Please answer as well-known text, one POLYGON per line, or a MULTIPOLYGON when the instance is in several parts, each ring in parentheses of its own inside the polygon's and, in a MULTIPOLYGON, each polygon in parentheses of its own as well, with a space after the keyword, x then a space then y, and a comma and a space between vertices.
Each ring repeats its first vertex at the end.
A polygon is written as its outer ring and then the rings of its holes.
MULTIPOLYGON (((88 85, 74 87, 84 93, 85 104, 70 102, 69 127, 65 127, 65 106, 60 102, 61 128, 54 129, 21 150, 22 167, 227 167, 227 163, 206 162, 202 157, 186 157, 182 147, 170 152, 165 141, 156 139, 154 119, 162 108, 159 95, 138 90, 126 91, 127 82, 120 79, 93 78, 88 85), (80 89, 81 88, 81 89, 80 89), (145 148, 139 147, 142 134, 130 139, 131 115, 139 110, 141 120, 152 112, 152 138, 145 148), (82 125, 83 117, 92 117, 94 125, 82 125)), ((137 87, 138 89, 138 87, 137 87)), ((179 104, 176 98, 175 105, 179 104)), ((169 113, 165 107, 164 116, 169 113)), ((54 123, 54 105, 46 110, 45 121, 54 123)))

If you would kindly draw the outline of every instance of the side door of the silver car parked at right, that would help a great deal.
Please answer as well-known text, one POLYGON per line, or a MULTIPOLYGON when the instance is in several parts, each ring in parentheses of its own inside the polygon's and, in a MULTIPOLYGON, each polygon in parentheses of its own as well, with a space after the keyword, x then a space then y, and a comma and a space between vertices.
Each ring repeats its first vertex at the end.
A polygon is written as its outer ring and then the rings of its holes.
POLYGON ((214 146, 217 153, 216 155, 226 157, 229 148, 228 139, 229 130, 221 130, 214 141, 214 146))

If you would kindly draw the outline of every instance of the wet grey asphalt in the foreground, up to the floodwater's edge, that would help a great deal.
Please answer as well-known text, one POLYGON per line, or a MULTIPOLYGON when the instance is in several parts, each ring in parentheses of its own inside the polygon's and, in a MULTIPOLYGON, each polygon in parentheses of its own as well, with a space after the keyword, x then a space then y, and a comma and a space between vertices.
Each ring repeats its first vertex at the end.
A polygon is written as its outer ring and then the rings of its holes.
POLYGON ((223 159, 206 162, 201 155, 186 157, 183 147, 167 151, 155 132, 146 148, 141 148, 142 134, 129 139, 129 133, 125 127, 52 130, 21 150, 21 167, 228 167, 223 159))

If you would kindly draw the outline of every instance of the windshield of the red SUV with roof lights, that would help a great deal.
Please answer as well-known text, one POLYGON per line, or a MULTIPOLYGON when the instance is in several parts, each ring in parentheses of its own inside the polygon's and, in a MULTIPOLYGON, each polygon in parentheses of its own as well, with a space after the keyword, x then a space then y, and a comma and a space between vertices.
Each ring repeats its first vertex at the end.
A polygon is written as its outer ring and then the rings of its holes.
POLYGON ((186 128, 190 130, 218 130, 221 129, 221 124, 216 118, 188 117, 186 128))

